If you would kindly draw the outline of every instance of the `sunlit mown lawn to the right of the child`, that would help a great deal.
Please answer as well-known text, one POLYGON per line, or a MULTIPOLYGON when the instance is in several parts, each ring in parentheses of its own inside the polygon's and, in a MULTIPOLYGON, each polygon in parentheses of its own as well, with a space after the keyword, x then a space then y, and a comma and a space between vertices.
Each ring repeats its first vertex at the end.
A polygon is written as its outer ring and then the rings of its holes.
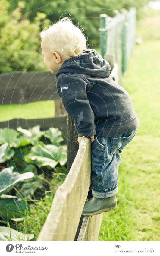
POLYGON ((137 23, 136 45, 122 86, 130 94, 140 126, 121 153, 118 207, 103 213, 99 241, 159 241, 160 16, 137 23), (155 25, 155 27, 154 27, 155 25))

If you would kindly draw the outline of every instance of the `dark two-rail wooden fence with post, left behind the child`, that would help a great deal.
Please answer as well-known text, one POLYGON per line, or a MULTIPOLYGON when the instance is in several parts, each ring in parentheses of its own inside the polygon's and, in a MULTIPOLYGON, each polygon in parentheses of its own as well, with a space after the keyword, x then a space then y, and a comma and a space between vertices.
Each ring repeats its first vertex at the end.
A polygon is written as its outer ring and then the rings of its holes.
MULTIPOLYGON (((16 118, 1 122, 1 128, 24 129, 40 125, 41 130, 59 128, 67 144, 67 112, 58 95, 55 74, 51 72, 14 72, 0 77, 0 105, 25 104, 37 101, 55 101, 55 117, 42 119, 16 118)), ((53 109, 54 112, 54 109, 53 109)))

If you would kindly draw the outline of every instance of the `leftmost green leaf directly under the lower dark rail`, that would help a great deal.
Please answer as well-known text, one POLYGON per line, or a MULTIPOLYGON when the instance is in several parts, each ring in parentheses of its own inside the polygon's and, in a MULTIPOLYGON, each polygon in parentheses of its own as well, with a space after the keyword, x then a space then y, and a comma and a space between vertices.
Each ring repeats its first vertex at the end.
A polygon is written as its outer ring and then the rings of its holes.
POLYGON ((17 147, 19 145, 17 135, 18 133, 14 129, 0 128, 0 144, 7 142, 10 147, 17 147))

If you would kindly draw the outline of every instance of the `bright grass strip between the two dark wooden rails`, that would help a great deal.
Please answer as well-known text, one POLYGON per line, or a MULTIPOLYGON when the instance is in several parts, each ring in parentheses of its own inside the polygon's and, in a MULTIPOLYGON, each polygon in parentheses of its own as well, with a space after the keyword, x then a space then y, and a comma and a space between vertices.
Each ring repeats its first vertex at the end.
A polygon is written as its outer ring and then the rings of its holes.
POLYGON ((38 119, 55 116, 55 102, 53 100, 38 101, 27 104, 1 105, 0 120, 1 122, 14 118, 38 119), (34 109, 34 111, 33 111, 34 109))

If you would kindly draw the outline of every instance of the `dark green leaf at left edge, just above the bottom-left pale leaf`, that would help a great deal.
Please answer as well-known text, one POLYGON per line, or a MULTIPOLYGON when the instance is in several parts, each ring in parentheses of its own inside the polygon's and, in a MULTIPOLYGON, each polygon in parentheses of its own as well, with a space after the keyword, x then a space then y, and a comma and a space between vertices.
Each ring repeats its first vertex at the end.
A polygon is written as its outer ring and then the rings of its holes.
POLYGON ((0 212, 5 218, 7 217, 10 220, 12 218, 24 217, 26 212, 29 212, 29 207, 24 200, 17 199, 15 196, 1 195, 0 212))

